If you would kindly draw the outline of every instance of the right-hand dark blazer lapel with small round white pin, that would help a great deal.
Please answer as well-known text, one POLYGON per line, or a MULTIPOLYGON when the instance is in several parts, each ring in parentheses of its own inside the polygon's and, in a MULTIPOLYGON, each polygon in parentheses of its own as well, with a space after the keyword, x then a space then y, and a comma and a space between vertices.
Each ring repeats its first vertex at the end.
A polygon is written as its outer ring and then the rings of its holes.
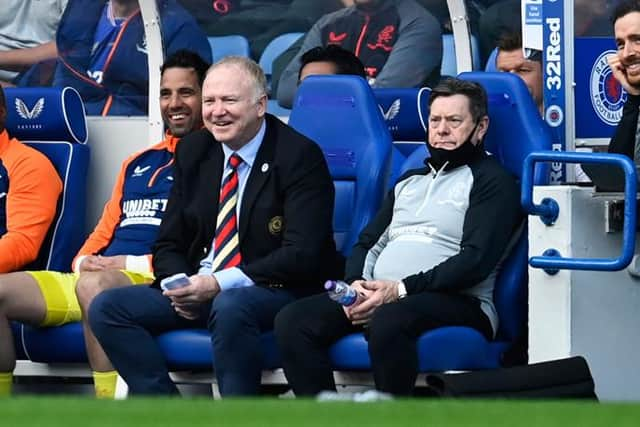
MULTIPOLYGON (((277 120, 277 119, 276 119, 277 120)), ((240 209, 240 227, 238 229, 240 233, 240 243, 245 238, 245 232, 249 224, 249 217, 253 210, 253 205, 260 194, 260 190, 267 182, 271 171, 273 170, 273 157, 275 155, 276 148, 276 130, 275 124, 270 120, 270 117, 266 117, 267 128, 265 130, 264 139, 258 153, 256 154, 256 160, 253 162, 253 167, 249 173, 247 184, 244 188, 244 194, 242 195, 242 206, 240 209)))

